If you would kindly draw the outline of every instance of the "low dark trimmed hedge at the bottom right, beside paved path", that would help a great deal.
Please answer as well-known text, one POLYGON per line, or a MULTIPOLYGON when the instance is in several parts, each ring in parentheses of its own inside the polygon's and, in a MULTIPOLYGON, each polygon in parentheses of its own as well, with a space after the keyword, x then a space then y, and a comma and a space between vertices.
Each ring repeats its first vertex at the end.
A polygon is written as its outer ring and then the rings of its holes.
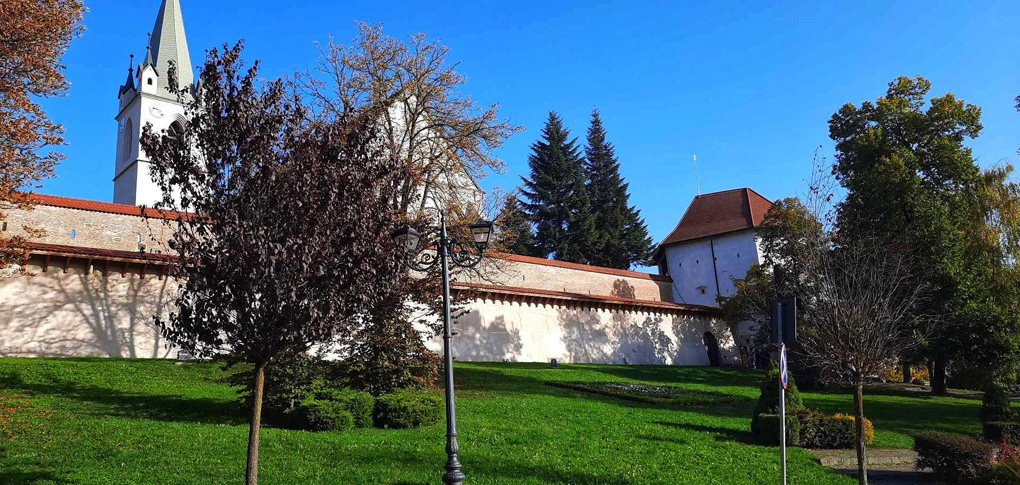
POLYGON ((996 447, 967 435, 922 431, 914 436, 917 467, 930 468, 946 483, 983 483, 996 447))

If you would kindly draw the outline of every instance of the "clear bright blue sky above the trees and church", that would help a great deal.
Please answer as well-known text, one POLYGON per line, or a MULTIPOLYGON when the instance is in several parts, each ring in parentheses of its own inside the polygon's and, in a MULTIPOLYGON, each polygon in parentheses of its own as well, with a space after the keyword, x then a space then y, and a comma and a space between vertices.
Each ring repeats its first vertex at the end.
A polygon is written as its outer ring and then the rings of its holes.
MULTIPOLYGON (((64 58, 69 95, 45 102, 67 129, 67 160, 41 192, 112 200, 116 92, 159 3, 87 1, 88 30, 64 58)), ((549 110, 582 138, 598 106, 656 240, 697 194, 693 154, 703 192, 801 194, 815 148, 831 158, 832 112, 901 75, 983 108, 971 142, 982 165, 1016 160, 1020 2, 742 3, 752 2, 182 0, 196 65, 205 49, 244 38, 267 77, 309 65, 316 40, 352 38, 356 19, 440 38, 466 91, 526 128, 500 150, 507 174, 481 181, 487 189, 527 174, 549 110)))

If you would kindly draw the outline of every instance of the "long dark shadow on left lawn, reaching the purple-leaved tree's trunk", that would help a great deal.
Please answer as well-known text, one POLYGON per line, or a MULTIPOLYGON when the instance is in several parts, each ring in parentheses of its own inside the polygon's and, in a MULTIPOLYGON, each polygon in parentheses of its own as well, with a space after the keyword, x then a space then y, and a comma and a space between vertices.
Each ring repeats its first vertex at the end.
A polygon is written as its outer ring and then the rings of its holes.
POLYGON ((27 383, 16 374, 0 376, 0 388, 99 404, 106 407, 101 411, 103 415, 121 418, 224 425, 247 423, 245 411, 236 402, 219 399, 132 393, 66 381, 27 383))

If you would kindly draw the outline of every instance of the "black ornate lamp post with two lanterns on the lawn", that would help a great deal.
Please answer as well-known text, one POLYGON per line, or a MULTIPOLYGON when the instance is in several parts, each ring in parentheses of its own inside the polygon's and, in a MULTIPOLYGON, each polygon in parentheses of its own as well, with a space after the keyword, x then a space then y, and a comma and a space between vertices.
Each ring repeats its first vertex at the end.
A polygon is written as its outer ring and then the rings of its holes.
POLYGON ((477 222, 469 226, 473 244, 464 244, 450 238, 446 229, 446 215, 440 214, 440 227, 421 234, 410 227, 393 233, 394 240, 404 248, 405 265, 414 271, 427 272, 440 263, 443 268, 443 354, 446 371, 447 404, 447 465, 443 483, 460 485, 464 482, 457 453, 457 409, 453 394, 453 354, 450 352, 453 333, 450 330, 450 262, 461 268, 473 268, 481 262, 481 256, 489 247, 493 233, 493 223, 477 222), (421 240, 425 239, 425 244, 421 240), (436 257, 436 253, 439 257, 436 257))

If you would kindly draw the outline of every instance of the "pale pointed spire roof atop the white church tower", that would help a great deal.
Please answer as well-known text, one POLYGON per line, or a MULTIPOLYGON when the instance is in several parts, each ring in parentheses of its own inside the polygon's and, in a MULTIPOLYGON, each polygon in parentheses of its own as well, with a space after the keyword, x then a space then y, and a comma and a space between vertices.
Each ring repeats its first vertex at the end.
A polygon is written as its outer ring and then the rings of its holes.
POLYGON ((146 57, 146 60, 156 67, 156 72, 159 75, 156 80, 158 96, 172 98, 166 91, 166 87, 169 86, 167 72, 170 61, 176 65, 180 86, 191 87, 195 83, 181 0, 163 0, 163 4, 159 7, 159 15, 156 16, 156 26, 152 29, 149 49, 152 58, 146 57))

